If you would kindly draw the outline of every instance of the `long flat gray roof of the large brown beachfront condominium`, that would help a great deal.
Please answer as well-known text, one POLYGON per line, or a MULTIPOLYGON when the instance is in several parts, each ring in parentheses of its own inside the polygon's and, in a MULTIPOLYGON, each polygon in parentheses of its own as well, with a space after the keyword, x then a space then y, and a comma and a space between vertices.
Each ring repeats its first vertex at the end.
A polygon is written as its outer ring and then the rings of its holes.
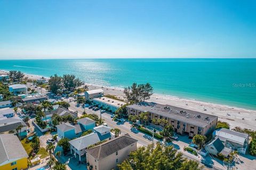
POLYGON ((185 108, 180 108, 171 105, 162 105, 157 103, 138 103, 134 105, 126 106, 127 108, 136 109, 140 112, 150 112, 157 115, 165 116, 178 120, 181 122, 193 124, 204 128, 207 124, 210 124, 218 116, 209 115, 206 113, 191 111, 185 108), (206 120, 206 118, 209 118, 206 120))

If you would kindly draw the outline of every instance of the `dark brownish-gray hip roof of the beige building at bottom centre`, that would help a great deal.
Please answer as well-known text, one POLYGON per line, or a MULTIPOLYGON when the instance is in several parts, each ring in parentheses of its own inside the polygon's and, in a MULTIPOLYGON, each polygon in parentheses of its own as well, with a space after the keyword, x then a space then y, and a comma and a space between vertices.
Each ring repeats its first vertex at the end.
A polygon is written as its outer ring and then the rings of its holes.
POLYGON ((95 159, 100 160, 136 142, 137 140, 131 138, 129 134, 125 134, 88 149, 87 154, 90 154, 95 159))

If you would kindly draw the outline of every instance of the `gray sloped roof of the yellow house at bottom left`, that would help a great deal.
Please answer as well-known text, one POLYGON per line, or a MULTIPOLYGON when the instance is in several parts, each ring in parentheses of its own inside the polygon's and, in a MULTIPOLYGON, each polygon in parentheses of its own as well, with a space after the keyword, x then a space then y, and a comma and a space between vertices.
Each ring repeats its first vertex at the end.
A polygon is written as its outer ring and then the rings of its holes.
POLYGON ((0 164, 19 158, 27 158, 28 154, 14 134, 0 134, 0 164))

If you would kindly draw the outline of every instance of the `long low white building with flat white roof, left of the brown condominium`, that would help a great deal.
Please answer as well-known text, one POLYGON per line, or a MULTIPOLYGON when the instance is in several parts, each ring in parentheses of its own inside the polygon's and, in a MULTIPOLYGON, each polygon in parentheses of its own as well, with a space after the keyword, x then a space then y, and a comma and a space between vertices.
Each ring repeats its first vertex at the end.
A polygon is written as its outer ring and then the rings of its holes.
POLYGON ((110 99, 108 97, 100 97, 93 99, 93 104, 114 113, 119 107, 125 105, 126 103, 123 101, 110 99))

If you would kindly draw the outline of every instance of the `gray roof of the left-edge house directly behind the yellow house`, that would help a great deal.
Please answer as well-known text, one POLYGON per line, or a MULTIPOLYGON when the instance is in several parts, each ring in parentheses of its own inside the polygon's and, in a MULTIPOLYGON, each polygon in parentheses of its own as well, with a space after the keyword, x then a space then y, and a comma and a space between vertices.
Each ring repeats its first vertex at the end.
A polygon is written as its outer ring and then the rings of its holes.
POLYGON ((1 118, 0 133, 15 130, 19 125, 27 126, 27 124, 18 117, 1 118))

